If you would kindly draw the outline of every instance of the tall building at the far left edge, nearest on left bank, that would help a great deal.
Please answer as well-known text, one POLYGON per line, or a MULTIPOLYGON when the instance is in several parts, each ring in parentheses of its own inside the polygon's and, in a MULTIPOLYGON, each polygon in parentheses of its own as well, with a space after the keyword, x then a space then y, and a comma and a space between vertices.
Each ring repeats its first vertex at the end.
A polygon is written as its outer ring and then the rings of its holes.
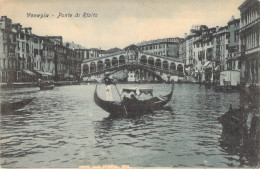
POLYGON ((0 83, 16 81, 16 33, 12 20, 0 18, 0 83))

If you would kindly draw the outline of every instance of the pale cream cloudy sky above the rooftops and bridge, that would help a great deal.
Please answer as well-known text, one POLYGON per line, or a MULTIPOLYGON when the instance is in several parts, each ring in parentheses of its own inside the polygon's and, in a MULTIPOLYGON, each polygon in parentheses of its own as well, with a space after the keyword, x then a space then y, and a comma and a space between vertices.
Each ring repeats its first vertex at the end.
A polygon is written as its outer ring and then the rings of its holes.
POLYGON ((36 35, 62 36, 64 42, 107 50, 146 40, 184 38, 192 25, 225 26, 232 15, 240 17, 238 7, 244 1, 0 0, 0 16, 32 27, 36 35), (31 17, 29 13, 49 16, 31 17))

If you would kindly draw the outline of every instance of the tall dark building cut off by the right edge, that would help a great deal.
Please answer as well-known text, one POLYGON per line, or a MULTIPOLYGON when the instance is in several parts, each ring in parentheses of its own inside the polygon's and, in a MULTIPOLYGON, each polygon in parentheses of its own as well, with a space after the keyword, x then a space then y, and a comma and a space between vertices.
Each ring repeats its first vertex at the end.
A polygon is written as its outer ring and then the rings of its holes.
POLYGON ((260 1, 245 0, 240 10, 241 69, 244 81, 260 83, 260 1))

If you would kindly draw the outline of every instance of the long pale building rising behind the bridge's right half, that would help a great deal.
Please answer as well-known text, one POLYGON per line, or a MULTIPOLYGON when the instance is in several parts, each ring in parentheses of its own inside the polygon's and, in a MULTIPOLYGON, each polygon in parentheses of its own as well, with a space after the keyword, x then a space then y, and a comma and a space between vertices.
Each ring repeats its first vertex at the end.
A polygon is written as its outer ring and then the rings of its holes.
POLYGON ((138 43, 137 46, 144 53, 160 55, 165 57, 179 57, 179 45, 183 41, 182 38, 164 38, 138 43))

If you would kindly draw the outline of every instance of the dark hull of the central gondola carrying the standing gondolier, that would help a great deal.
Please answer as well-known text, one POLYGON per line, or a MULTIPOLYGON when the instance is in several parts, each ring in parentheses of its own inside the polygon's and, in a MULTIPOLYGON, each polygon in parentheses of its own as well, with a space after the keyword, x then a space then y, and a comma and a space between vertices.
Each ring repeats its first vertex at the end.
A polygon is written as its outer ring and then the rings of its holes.
POLYGON ((98 96, 96 85, 94 101, 100 108, 107 111, 112 116, 135 116, 161 109, 171 100, 172 94, 173 85, 171 92, 168 95, 162 97, 152 97, 147 100, 138 100, 137 98, 132 99, 124 97, 121 102, 106 101, 98 96))

